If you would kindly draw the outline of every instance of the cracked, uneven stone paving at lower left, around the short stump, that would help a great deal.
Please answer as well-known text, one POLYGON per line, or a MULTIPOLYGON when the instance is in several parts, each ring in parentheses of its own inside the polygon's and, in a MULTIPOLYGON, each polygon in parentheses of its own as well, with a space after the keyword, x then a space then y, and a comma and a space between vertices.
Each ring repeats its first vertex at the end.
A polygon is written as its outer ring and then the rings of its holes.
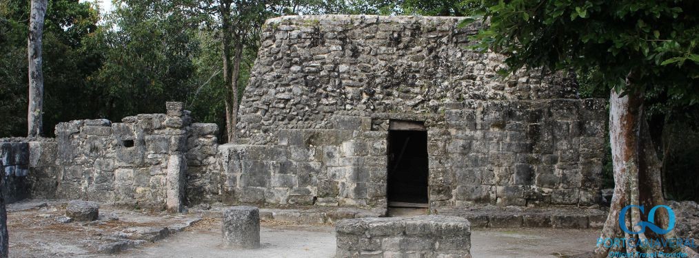
POLYGON ((89 222, 66 222, 64 201, 28 200, 8 206, 10 257, 91 257, 122 252, 181 232, 196 215, 103 206, 89 222))

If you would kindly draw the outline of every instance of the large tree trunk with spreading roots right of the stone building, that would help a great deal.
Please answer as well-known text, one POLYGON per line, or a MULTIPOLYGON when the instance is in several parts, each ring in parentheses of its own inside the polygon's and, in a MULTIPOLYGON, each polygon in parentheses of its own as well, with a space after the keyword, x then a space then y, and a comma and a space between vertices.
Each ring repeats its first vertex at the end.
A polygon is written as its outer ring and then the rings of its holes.
MULTIPOLYGON (((627 79, 627 84, 631 83, 627 79)), ((628 93, 621 96, 612 90, 610 94, 610 141, 612 146, 612 164, 614 166, 614 196, 609 215, 600 238, 676 238, 674 231, 658 235, 651 230, 640 234, 628 234, 621 230, 619 215, 621 209, 628 205, 644 206, 645 213, 637 208, 630 208, 626 215, 626 228, 631 232, 640 232, 639 222, 648 220, 651 208, 664 205, 661 184, 661 162, 650 137, 648 124, 643 114, 642 93, 628 93)), ((658 227, 668 228, 668 212, 658 208, 655 213, 658 227)), ((609 243, 609 242, 607 242, 609 243)), ((637 252, 629 245, 598 245, 594 257, 607 257, 609 252, 637 252)), ((653 250, 643 250, 651 252, 653 250)), ((670 250, 663 250, 670 251, 670 250)), ((699 257, 693 250, 683 248, 689 257, 699 257)))

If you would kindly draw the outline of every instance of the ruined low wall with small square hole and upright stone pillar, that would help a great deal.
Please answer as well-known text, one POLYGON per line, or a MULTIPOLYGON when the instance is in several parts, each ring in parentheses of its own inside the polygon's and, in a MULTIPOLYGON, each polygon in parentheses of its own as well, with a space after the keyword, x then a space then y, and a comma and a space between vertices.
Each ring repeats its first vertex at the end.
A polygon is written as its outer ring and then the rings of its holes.
POLYGON ((167 104, 167 114, 122 123, 59 123, 56 197, 179 210, 191 119, 182 103, 167 104))

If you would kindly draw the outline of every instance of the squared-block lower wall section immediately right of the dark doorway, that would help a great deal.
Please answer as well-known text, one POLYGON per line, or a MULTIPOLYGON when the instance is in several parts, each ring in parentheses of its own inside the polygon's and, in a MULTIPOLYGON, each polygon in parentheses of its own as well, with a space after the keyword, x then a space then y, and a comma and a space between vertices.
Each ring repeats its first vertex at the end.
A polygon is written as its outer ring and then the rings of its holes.
POLYGON ((432 206, 597 204, 604 113, 602 100, 567 99, 447 109, 428 137, 432 206))

